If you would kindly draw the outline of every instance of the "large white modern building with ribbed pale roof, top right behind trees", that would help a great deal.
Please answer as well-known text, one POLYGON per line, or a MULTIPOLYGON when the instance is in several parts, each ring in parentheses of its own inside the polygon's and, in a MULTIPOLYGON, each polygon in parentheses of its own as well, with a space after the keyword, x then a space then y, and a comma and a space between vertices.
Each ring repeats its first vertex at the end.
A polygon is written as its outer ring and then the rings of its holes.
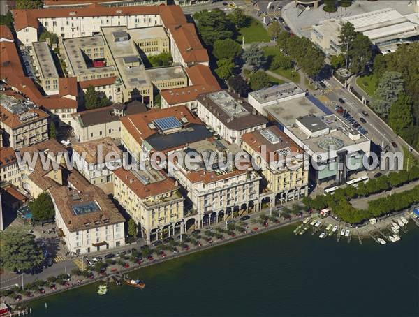
POLYGON ((311 41, 328 55, 340 54, 340 28, 351 22, 355 31, 362 32, 382 52, 396 50, 397 45, 419 39, 419 13, 401 15, 394 8, 329 19, 315 24, 311 29, 311 41))

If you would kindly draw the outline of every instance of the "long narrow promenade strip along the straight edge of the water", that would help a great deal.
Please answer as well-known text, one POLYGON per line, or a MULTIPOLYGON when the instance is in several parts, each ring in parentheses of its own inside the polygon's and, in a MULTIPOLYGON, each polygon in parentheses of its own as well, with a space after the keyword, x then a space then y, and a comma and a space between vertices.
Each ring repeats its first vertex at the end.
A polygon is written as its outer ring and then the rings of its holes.
POLYGON ((105 276, 95 277, 94 279, 91 279, 91 280, 86 281, 84 283, 73 284, 73 285, 71 285, 67 288, 63 288, 61 290, 55 290, 52 293, 40 294, 36 297, 27 297, 27 298, 24 298, 24 299, 20 300, 19 302, 10 302, 9 305, 13 306, 13 307, 20 307, 22 304, 27 304, 28 302, 33 302, 35 300, 41 300, 42 298, 45 298, 45 297, 49 297, 49 296, 52 296, 52 295, 58 295, 59 293, 64 293, 68 290, 74 290, 76 288, 81 288, 83 286, 88 286, 88 285, 91 285, 93 283, 97 283, 98 281, 103 281, 104 279, 112 277, 115 274, 130 273, 130 272, 133 272, 133 271, 136 271, 136 270, 141 270, 142 268, 145 268, 145 267, 149 267, 149 266, 152 266, 152 265, 164 263, 164 262, 167 262, 167 261, 170 261, 170 260, 175 260, 175 259, 181 258, 183 256, 189 256, 193 253, 198 253, 200 251, 205 251, 207 249, 216 248, 217 246, 230 244, 230 243, 233 243, 233 242, 240 241, 242 239, 247 239, 249 237, 254 237, 256 235, 261 235, 263 233, 268 233, 270 231, 277 230, 277 229, 280 229, 280 228, 298 223, 299 221, 303 221, 304 219, 309 218, 310 216, 311 215, 308 214, 308 215, 302 216, 301 218, 291 219, 291 221, 282 222, 282 223, 274 223, 274 224, 272 224, 272 226, 269 226, 267 228, 261 227, 261 228, 258 228, 257 231, 251 230, 249 233, 244 233, 240 236, 229 237, 228 239, 223 239, 219 242, 213 242, 212 244, 207 244, 205 246, 198 246, 196 249, 191 249, 189 251, 184 251, 184 252, 178 253, 178 254, 172 254, 170 256, 166 256, 166 258, 159 258, 159 259, 156 259, 152 262, 142 263, 141 265, 128 267, 126 269, 119 270, 117 273, 106 274, 105 276))

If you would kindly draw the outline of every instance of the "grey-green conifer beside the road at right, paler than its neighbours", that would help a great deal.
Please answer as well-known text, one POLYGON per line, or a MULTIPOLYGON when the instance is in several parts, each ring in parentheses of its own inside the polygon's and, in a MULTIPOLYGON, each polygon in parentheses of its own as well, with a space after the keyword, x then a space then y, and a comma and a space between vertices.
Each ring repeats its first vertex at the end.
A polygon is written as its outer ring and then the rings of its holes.
POLYGON ((397 98, 402 91, 404 91, 402 74, 395 71, 384 73, 378 83, 376 100, 372 102, 372 107, 380 115, 387 117, 390 106, 397 101, 397 98))

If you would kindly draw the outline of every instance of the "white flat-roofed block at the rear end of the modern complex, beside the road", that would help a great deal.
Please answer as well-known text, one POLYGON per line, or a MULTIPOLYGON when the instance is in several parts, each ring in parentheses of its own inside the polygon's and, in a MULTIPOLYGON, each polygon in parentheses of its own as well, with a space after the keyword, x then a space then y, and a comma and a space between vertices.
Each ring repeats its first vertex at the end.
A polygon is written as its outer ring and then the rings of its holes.
POLYGON ((252 91, 249 93, 249 103, 258 110, 260 115, 267 117, 267 112, 263 109, 268 105, 275 105, 283 101, 305 96, 305 91, 293 82, 277 84, 275 86, 252 91))

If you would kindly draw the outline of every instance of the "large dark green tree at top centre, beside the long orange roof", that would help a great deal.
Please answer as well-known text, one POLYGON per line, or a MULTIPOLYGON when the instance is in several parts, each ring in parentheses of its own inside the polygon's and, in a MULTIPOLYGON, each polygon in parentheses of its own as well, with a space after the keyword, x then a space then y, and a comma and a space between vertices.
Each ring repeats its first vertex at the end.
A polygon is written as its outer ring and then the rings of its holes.
POLYGON ((199 11, 193 15, 193 20, 195 20, 198 32, 207 46, 212 46, 216 40, 233 38, 235 34, 234 24, 227 19, 226 13, 218 8, 211 11, 199 11))

